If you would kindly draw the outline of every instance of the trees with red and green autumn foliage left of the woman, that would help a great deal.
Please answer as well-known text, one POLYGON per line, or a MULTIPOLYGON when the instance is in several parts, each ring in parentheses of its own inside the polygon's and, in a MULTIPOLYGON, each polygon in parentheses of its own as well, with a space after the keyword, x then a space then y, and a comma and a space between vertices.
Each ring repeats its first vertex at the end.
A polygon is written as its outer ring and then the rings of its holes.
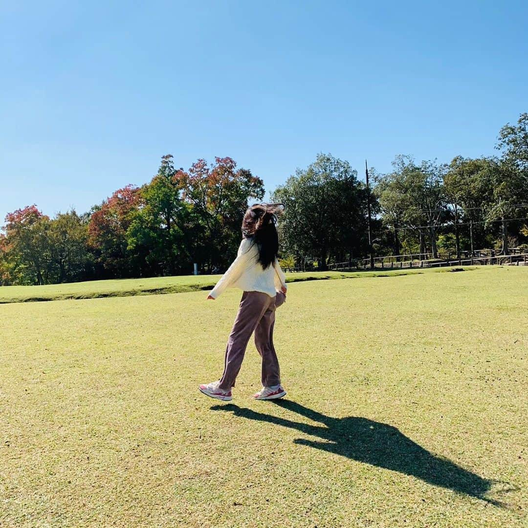
POLYGON ((188 171, 163 156, 142 187, 127 185, 84 214, 50 219, 35 205, 6 216, 0 281, 53 284, 91 279, 190 274, 193 263, 223 269, 238 247, 248 199, 264 185, 229 157, 188 171))

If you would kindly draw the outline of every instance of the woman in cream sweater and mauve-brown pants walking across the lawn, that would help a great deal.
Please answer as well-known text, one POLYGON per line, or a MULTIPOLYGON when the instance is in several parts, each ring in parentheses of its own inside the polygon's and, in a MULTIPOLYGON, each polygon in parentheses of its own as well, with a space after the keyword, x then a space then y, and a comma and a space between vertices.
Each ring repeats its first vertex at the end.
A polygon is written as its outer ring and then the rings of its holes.
POLYGON ((286 300, 286 277, 277 261, 276 224, 280 208, 281 204, 257 204, 246 211, 237 258, 208 296, 208 299, 216 299, 229 287, 243 290, 225 350, 224 373, 219 381, 200 385, 200 390, 211 398, 232 400, 231 388, 253 332, 262 357, 262 389, 254 398, 273 400, 286 395, 280 383, 279 361, 273 346, 275 309, 286 300))

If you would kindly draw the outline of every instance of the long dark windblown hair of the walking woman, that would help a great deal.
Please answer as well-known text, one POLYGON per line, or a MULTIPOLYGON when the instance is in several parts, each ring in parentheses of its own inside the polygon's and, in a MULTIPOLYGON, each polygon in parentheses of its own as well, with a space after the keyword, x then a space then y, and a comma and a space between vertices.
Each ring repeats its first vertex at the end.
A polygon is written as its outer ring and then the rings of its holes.
POLYGON ((263 269, 269 267, 279 253, 277 214, 284 210, 281 203, 258 203, 244 214, 242 235, 252 238, 259 249, 259 262, 263 269))

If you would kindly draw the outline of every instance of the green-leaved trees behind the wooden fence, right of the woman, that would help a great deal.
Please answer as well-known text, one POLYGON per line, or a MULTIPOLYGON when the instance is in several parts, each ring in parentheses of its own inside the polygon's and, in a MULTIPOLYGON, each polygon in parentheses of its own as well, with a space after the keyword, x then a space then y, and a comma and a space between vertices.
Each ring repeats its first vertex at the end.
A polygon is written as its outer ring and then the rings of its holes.
POLYGON ((318 155, 272 194, 285 204, 280 230, 288 265, 326 269, 371 253, 436 259, 484 248, 528 252, 528 114, 502 127, 497 149, 500 156, 450 163, 399 155, 388 174, 370 169, 369 188, 347 162, 318 155))

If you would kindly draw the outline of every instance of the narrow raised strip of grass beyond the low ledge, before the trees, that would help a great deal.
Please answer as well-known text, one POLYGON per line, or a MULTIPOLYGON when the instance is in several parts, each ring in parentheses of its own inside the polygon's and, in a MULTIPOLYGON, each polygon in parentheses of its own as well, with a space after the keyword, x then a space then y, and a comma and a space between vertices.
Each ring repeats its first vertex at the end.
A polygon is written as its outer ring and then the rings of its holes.
MULTIPOLYGON (((469 268, 468 268, 469 269, 469 268)), ((426 270, 446 271, 448 268, 426 270)), ((423 270, 381 271, 323 271, 286 274, 288 282, 319 279, 343 279, 358 277, 385 277, 421 273, 423 270)), ((152 277, 147 279, 92 280, 50 284, 45 286, 2 286, 0 304, 24 303, 28 301, 93 299, 99 297, 126 297, 130 295, 174 294, 186 291, 211 289, 221 275, 186 275, 177 277, 152 277)))

